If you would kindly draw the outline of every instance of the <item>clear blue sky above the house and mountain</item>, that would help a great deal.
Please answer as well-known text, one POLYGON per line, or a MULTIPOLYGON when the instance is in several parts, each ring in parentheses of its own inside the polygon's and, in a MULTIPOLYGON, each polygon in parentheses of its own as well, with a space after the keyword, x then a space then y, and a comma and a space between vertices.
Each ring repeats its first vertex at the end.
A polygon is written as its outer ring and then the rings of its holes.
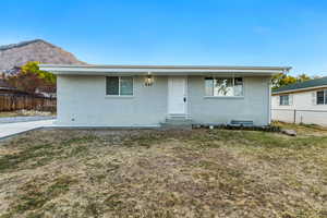
POLYGON ((43 38, 88 63, 327 75, 326 0, 10 0, 0 11, 0 45, 43 38))

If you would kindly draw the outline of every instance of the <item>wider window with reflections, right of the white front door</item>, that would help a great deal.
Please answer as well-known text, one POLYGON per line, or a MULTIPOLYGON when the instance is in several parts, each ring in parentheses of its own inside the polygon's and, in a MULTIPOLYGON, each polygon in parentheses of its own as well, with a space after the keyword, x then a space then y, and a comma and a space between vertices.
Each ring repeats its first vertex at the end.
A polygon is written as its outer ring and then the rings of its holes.
POLYGON ((206 96, 243 96, 242 77, 205 77, 206 96))

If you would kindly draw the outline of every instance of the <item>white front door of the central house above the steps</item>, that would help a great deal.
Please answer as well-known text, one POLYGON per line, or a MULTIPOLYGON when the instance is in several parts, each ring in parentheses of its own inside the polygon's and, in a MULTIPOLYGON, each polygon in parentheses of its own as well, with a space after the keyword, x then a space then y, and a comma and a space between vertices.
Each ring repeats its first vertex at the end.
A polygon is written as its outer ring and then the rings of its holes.
POLYGON ((168 78, 168 113, 186 114, 187 99, 186 76, 170 76, 168 78))

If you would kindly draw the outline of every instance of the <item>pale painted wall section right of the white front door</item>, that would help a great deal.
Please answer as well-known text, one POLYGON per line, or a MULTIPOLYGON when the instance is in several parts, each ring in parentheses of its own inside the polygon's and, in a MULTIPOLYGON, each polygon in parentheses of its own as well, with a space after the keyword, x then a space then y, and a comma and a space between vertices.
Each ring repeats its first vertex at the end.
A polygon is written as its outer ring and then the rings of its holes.
POLYGON ((204 77, 189 77, 191 116, 195 123, 225 123, 250 120, 270 123, 270 77, 244 77, 243 97, 205 97, 204 77))

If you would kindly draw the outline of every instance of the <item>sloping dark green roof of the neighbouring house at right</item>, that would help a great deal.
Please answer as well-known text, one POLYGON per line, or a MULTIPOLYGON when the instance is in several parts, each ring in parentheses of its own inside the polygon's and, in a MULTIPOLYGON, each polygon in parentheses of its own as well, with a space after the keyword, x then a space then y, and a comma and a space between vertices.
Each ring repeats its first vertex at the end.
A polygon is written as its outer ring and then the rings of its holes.
POLYGON ((306 89, 313 89, 313 88, 319 88, 319 87, 327 87, 327 76, 322 77, 322 78, 305 81, 302 83, 294 83, 294 84, 286 85, 278 89, 272 90, 272 94, 293 93, 293 92, 298 92, 298 90, 306 90, 306 89))

